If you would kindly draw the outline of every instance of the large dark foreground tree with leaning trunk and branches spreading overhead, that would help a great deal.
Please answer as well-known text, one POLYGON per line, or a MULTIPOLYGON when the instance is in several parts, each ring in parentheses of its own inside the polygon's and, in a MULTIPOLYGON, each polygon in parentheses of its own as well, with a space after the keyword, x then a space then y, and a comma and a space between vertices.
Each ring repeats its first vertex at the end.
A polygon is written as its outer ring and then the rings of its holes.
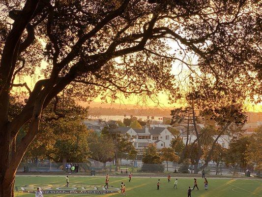
POLYGON ((119 91, 153 99, 161 90, 175 99, 179 78, 171 63, 193 71, 196 65, 185 60, 194 55, 214 88, 229 87, 225 91, 239 96, 261 93, 259 1, 0 0, 0 12, 1 197, 14 195, 16 169, 42 111, 63 89, 88 100, 99 94, 116 99, 119 91), (30 89, 25 76, 37 73, 43 60, 48 65, 30 89), (15 87, 29 94, 10 120, 15 87))

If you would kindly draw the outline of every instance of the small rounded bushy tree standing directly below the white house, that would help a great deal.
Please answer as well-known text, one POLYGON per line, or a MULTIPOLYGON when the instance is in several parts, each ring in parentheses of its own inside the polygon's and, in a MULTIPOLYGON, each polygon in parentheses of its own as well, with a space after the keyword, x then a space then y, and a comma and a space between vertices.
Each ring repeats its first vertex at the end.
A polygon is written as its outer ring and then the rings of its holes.
POLYGON ((144 149, 142 162, 144 164, 162 164, 161 156, 155 146, 149 145, 144 149))

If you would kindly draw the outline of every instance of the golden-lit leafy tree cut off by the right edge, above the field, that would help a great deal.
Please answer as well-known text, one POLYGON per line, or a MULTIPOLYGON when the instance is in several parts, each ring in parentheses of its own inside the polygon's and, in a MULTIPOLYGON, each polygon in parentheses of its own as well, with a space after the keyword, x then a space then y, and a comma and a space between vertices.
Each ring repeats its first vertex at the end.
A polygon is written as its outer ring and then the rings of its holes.
POLYGON ((262 170, 262 126, 256 129, 250 140, 251 142, 247 147, 246 160, 248 164, 262 170))

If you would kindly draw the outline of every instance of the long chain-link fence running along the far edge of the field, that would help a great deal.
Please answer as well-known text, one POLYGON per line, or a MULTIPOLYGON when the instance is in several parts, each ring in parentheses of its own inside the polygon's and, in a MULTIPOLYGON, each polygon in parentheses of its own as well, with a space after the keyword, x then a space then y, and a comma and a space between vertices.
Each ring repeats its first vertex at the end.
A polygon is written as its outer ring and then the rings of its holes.
MULTIPOLYGON (((198 165, 200 168, 202 164, 198 165)), ((194 165, 192 164, 177 164, 177 163, 163 163, 163 164, 143 164, 142 161, 135 162, 123 162, 122 164, 103 164, 101 162, 89 159, 87 163, 53 163, 49 161, 38 163, 21 163, 18 172, 87 172, 90 170, 96 172, 118 172, 118 173, 183 173, 194 174, 194 165), (68 164, 70 164, 68 166, 68 164), (74 166, 72 168, 72 166, 74 166)), ((212 176, 237 176, 244 175, 246 171, 251 173, 251 176, 261 176, 259 170, 255 170, 253 167, 239 167, 239 166, 227 166, 225 164, 208 164, 204 167, 205 175, 212 176)), ((198 171, 202 173, 202 169, 198 171)))

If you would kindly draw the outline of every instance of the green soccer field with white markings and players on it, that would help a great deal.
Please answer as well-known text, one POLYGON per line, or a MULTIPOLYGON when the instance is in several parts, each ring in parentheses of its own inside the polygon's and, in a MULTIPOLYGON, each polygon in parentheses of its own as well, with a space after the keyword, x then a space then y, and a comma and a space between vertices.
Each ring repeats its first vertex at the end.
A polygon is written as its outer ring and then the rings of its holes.
MULTIPOLYGON (((109 189, 103 188, 105 177, 70 177, 69 187, 65 187, 65 176, 17 176, 15 197, 34 197, 37 187, 42 188, 44 196, 120 196, 121 182, 126 185, 126 196, 129 197, 187 197, 188 186, 194 185, 193 178, 178 178, 178 189, 173 189, 175 178, 171 183, 167 178, 160 179, 160 190, 157 190, 157 177, 109 177, 109 189), (50 194, 45 194, 46 192, 50 194), (69 193, 69 194, 66 194, 69 193), (77 194, 78 193, 78 194, 77 194), (80 193, 80 194, 79 194, 80 193), (94 193, 94 194, 88 194, 94 193), (101 194, 97 194, 101 193, 101 194), (104 194, 107 193, 107 194, 104 194)), ((204 190, 204 180, 198 178, 199 191, 195 188, 192 197, 262 197, 262 180, 259 179, 212 179, 208 180, 208 190, 204 190)))

